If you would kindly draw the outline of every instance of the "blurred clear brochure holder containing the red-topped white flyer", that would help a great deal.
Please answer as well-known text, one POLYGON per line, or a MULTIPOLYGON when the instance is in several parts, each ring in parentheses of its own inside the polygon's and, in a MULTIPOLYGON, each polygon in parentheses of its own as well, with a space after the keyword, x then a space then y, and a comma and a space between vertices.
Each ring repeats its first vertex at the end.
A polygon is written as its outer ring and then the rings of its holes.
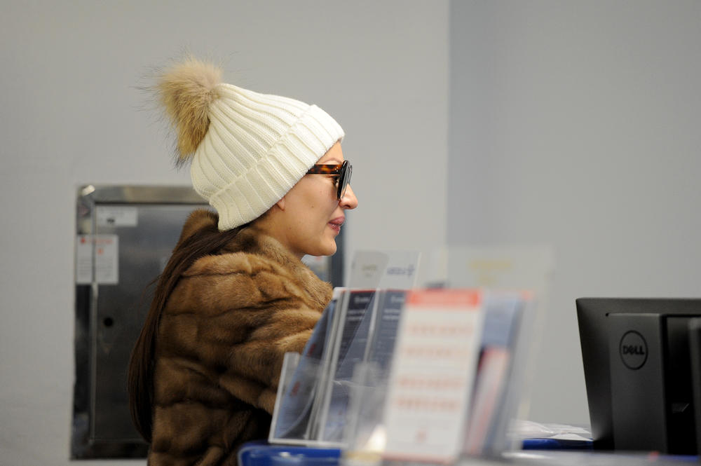
POLYGON ((353 416, 348 417, 344 445, 349 462, 445 464, 463 457, 495 457, 515 448, 508 428, 522 401, 536 310, 533 296, 431 289, 411 290, 407 300, 427 293, 438 296, 437 304, 402 311, 388 370, 372 362, 355 368, 349 409, 353 416), (455 294, 477 296, 479 305, 463 306, 456 313, 451 304, 455 294), (456 316, 470 313, 472 320, 456 316), (457 331, 470 325, 479 327, 472 341, 457 331), (445 332, 441 338, 432 338, 440 331, 445 332), (451 355, 460 355, 452 366, 451 355), (464 359, 472 359, 471 365, 464 359), (430 367, 439 362, 442 370, 430 367), (442 430, 449 423, 451 429, 442 430))

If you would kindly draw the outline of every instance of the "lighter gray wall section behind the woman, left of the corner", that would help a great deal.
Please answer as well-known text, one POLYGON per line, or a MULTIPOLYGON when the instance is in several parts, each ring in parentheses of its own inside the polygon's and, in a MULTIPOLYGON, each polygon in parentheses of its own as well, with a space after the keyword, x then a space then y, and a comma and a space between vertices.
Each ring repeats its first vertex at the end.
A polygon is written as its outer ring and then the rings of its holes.
POLYGON ((428 249, 446 234, 448 7, 2 3, 1 464, 69 463, 76 186, 189 184, 137 90, 149 67, 189 48, 223 59, 229 82, 319 104, 355 168, 347 248, 428 249))

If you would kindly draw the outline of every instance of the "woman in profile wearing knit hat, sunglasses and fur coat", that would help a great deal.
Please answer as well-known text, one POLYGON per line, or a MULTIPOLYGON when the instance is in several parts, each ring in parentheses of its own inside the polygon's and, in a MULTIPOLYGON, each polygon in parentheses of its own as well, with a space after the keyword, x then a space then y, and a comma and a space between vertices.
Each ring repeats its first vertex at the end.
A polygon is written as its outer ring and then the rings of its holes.
POLYGON ((332 287, 301 262, 336 252, 358 200, 343 130, 315 105, 220 81, 187 57, 156 90, 176 165, 215 212, 187 219, 132 352, 130 409, 149 465, 235 465, 266 438, 285 352, 301 352, 332 287))

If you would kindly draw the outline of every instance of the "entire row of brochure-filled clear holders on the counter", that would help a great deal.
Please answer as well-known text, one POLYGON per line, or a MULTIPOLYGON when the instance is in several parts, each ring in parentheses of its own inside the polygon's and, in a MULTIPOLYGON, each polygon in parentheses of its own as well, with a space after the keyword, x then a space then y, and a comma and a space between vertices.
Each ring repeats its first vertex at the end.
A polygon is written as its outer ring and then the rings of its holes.
POLYGON ((512 448, 536 299, 484 289, 336 289, 285 355, 268 441, 347 462, 451 463, 512 448))

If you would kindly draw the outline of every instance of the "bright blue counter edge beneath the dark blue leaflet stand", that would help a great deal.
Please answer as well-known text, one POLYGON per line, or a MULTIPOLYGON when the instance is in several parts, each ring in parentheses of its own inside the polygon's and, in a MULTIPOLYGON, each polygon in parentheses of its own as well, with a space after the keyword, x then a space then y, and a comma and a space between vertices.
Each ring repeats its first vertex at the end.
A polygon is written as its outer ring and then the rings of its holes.
POLYGON ((239 466, 336 466, 340 458, 340 448, 272 445, 266 441, 250 441, 238 451, 239 466))

